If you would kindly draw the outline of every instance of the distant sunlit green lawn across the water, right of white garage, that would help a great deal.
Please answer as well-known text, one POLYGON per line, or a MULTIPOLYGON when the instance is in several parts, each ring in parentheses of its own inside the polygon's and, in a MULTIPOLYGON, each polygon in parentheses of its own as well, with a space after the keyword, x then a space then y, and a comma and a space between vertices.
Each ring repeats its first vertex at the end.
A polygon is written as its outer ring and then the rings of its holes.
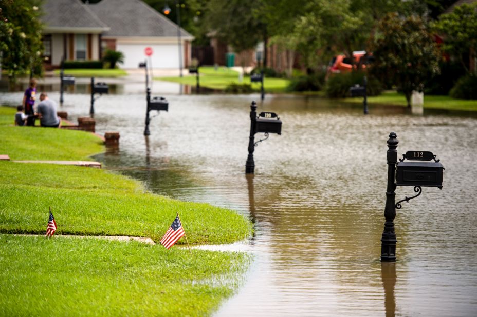
MULTIPOLYGON (((210 89, 224 90, 229 84, 239 84, 239 72, 228 69, 226 67, 219 67, 217 70, 214 67, 200 67, 199 81, 201 87, 210 89)), ((155 77, 155 80, 181 83, 185 85, 195 86, 195 74, 185 75, 184 77, 155 77)), ((250 83, 250 77, 244 76, 243 84, 251 84, 255 91, 260 91, 260 83, 250 83)), ((265 92, 284 92, 288 86, 289 80, 284 78, 268 78, 265 76, 264 87, 265 92)))

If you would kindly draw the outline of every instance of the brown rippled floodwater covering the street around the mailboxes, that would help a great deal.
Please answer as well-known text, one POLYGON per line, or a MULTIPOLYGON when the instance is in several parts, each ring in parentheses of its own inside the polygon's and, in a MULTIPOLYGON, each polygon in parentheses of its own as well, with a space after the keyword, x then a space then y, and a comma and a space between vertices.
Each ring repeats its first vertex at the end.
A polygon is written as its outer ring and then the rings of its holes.
MULTIPOLYGON (((278 113, 282 135, 255 148, 255 174, 245 175, 258 94, 164 96, 169 112, 152 119, 149 137, 143 89, 99 98, 97 131, 121 138, 119 149, 95 159, 155 193, 232 208, 254 222, 251 239, 212 247, 254 254, 243 286, 216 316, 477 315, 477 118, 400 107, 370 107, 365 116, 359 106, 266 95, 258 112, 278 113), (437 154, 444 188, 424 187, 396 210, 397 262, 381 263, 391 131, 399 155, 437 154)), ((21 93, 0 98, 15 103, 21 93)), ((89 98, 67 93, 61 110, 87 116, 89 98)), ((398 187, 396 201, 412 195, 398 187)))

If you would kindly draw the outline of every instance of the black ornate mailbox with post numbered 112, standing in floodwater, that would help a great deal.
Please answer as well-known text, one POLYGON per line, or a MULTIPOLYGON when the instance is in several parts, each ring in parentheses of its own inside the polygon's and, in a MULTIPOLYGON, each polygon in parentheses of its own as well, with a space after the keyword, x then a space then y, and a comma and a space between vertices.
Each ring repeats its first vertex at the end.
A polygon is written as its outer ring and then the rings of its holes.
POLYGON ((442 189, 444 166, 436 160, 436 155, 428 151, 408 151, 402 154, 397 162, 397 135, 389 134, 388 140, 388 189, 386 191, 386 207, 384 207, 384 230, 381 237, 381 261, 396 261, 396 233, 394 232, 394 218, 396 209, 401 209, 401 203, 409 202, 422 193, 421 187, 438 187, 442 189), (403 162, 431 161, 434 162, 403 162), (395 203, 396 186, 414 186, 417 194, 395 203))

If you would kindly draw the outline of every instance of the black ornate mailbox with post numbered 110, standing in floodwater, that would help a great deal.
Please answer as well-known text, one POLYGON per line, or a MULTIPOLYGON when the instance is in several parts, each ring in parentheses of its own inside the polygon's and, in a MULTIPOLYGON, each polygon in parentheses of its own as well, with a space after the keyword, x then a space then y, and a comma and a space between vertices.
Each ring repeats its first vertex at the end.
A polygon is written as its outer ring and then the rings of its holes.
POLYGON ((282 121, 274 112, 261 112, 256 116, 256 103, 252 101, 250 105, 250 137, 248 141, 248 157, 245 163, 245 173, 253 174, 255 162, 253 161, 253 151, 260 142, 267 140, 268 133, 282 134, 282 121), (255 133, 264 132, 265 138, 255 142, 255 133))

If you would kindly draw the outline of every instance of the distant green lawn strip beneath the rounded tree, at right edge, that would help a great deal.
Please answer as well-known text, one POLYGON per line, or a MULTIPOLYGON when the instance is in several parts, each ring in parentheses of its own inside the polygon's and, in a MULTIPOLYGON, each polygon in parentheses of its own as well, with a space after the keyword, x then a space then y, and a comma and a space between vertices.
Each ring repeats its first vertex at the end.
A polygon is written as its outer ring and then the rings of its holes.
MULTIPOLYGON (((346 98, 341 99, 345 103, 359 103, 362 104, 363 98, 346 98)), ((379 96, 368 97, 369 105, 396 105, 407 106, 406 97, 395 91, 385 91, 379 96)), ((461 100, 453 99, 449 96, 437 96, 424 94, 424 108, 427 109, 445 109, 458 111, 477 111, 476 100, 461 100)))

